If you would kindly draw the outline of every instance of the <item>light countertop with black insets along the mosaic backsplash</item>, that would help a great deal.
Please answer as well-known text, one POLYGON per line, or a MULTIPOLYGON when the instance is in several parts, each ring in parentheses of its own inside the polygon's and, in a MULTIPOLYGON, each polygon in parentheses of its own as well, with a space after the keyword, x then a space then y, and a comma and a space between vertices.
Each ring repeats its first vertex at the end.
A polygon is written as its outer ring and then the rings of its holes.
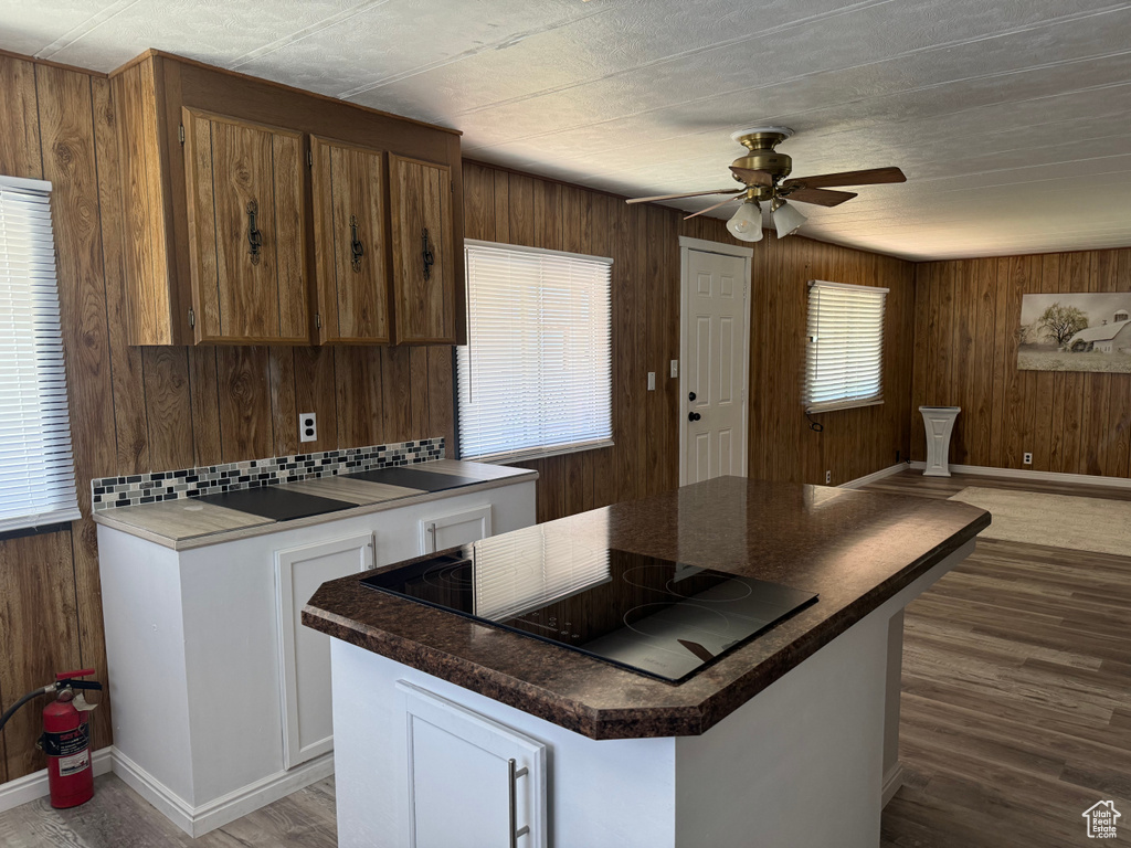
POLYGON ((414 503, 437 501, 457 494, 481 492, 538 478, 538 473, 528 468, 460 462, 455 459, 437 459, 405 467, 422 471, 474 477, 481 482, 440 492, 422 492, 416 488, 389 486, 338 476, 285 483, 282 484, 282 487, 294 492, 304 492, 357 504, 353 509, 297 518, 291 521, 275 521, 225 507, 200 503, 191 497, 105 510, 96 512, 94 520, 96 523, 154 542, 164 547, 171 547, 174 551, 188 551, 206 545, 234 542, 249 536, 276 533, 284 527, 288 530, 296 527, 309 527, 326 521, 338 521, 354 516, 398 509, 414 503))

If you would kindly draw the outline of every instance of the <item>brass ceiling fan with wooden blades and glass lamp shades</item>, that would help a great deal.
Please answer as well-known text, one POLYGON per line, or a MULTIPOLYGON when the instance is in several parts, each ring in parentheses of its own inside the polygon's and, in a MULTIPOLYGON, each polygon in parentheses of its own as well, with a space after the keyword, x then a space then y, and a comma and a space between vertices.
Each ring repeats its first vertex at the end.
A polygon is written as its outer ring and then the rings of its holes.
POLYGON ((708 206, 688 218, 709 213, 727 204, 741 202, 737 211, 726 222, 726 228, 736 239, 757 242, 762 237, 761 204, 769 201, 770 217, 778 239, 795 233, 808 218, 789 206, 787 200, 818 206, 839 206, 856 194, 851 191, 829 191, 831 185, 875 185, 889 182, 906 182, 907 178, 898 167, 873 167, 866 171, 845 171, 839 174, 818 174, 786 179, 793 170, 793 159, 774 148, 793 135, 788 127, 754 127, 739 130, 731 138, 746 148, 746 154, 731 163, 731 174, 742 183, 741 189, 718 189, 717 191, 689 191, 683 194, 657 194, 656 197, 632 198, 630 204, 646 204, 654 200, 675 200, 684 197, 707 197, 727 194, 714 206, 708 206))

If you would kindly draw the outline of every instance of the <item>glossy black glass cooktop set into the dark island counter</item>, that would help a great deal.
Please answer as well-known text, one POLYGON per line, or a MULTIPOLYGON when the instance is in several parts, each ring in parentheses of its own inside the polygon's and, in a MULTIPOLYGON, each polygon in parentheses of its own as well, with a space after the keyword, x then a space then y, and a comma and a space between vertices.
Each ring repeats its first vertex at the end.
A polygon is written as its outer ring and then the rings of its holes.
POLYGON ((817 600, 538 531, 483 539, 361 582, 673 683, 817 600))

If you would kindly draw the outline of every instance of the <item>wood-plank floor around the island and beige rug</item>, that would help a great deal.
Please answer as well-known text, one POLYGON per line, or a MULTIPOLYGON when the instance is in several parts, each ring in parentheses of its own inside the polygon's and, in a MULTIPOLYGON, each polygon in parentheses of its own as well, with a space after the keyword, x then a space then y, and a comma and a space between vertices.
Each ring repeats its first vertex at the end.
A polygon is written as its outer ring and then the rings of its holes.
MULTIPOLYGON (((949 497, 973 485, 1131 500, 1131 490, 910 470, 867 488, 949 497)), ((907 609, 901 710, 906 782, 884 811, 881 848, 1089 845, 1081 813, 1100 799, 1125 816, 1114 843, 1131 840, 1131 556, 978 542, 907 609)), ((198 840, 113 776, 78 810, 40 801, 0 814, 5 848, 335 842, 333 779, 198 840)))

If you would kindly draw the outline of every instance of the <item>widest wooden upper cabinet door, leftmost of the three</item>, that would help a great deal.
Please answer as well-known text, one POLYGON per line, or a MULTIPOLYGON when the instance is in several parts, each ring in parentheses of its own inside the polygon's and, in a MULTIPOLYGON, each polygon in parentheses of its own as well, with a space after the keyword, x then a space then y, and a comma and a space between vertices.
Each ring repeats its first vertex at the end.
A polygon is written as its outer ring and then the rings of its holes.
POLYGON ((302 135, 184 110, 197 341, 310 338, 302 135))

